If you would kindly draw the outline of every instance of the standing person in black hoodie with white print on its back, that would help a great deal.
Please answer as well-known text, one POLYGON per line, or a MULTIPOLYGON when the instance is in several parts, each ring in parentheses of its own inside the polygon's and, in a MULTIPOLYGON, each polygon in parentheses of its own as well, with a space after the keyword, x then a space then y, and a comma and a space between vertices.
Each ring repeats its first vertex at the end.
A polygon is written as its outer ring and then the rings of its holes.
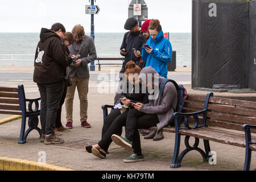
POLYGON ((60 99, 64 90, 65 68, 71 60, 61 45, 65 27, 61 23, 52 25, 51 30, 42 28, 36 47, 33 80, 41 97, 40 122, 44 144, 63 143, 55 133, 55 121, 60 99))

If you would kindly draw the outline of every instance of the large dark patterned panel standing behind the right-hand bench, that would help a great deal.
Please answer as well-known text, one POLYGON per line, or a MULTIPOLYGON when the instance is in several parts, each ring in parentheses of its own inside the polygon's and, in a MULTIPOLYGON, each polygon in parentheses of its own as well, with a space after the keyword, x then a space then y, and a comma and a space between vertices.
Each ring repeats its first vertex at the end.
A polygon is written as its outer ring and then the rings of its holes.
MULTIPOLYGON (((192 44, 199 46, 192 51, 192 55, 196 55, 196 51, 198 53, 198 57, 192 56, 192 62, 197 61, 196 64, 192 63, 197 65, 192 67, 192 80, 198 79, 192 81, 192 87, 212 88, 213 84, 240 84, 247 88, 249 3, 216 1, 217 16, 210 17, 209 3, 212 2, 214 1, 197 1, 198 12, 193 12, 198 13, 200 18, 199 27, 193 25, 193 31, 199 32, 192 44)), ((193 32, 193 36, 195 35, 193 32)))

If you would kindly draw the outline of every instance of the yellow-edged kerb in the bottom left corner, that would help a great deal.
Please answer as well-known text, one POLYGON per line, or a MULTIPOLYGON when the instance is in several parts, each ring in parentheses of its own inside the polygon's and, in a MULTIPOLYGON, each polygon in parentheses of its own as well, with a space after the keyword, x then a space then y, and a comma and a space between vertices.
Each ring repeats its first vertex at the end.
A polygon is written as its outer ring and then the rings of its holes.
POLYGON ((44 164, 33 160, 15 159, 0 156, 0 171, 75 171, 52 164, 44 164))

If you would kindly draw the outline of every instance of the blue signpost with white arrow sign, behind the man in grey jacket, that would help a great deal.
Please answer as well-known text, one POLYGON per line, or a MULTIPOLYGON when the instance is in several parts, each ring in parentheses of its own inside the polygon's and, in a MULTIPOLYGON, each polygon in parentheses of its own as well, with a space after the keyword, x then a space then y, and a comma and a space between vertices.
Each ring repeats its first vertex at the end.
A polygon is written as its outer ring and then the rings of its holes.
MULTIPOLYGON (((98 14, 100 12, 100 7, 98 7, 98 5, 94 5, 94 1, 96 2, 96 0, 89 0, 89 2, 91 2, 91 4, 85 6, 85 14, 90 14, 90 36, 93 38, 93 41, 95 38, 94 14, 98 14)), ((94 61, 92 61, 90 63, 90 71, 95 71, 94 61)))

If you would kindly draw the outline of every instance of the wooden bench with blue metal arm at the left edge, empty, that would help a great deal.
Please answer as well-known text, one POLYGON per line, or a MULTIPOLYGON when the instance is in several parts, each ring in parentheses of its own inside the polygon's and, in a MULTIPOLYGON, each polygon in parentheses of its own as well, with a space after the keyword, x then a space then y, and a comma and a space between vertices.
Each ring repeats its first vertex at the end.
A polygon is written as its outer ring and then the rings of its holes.
POLYGON ((0 114, 22 115, 22 122, 19 135, 19 144, 26 143, 30 131, 37 130, 40 137, 41 129, 38 127, 40 115, 39 100, 41 98, 27 99, 23 85, 18 88, 0 88, 0 114), (28 102, 28 107, 27 107, 28 102), (34 109, 32 105, 35 105, 34 109), (28 129, 26 131, 26 120, 28 118, 28 129), (26 132, 25 132, 26 131, 26 132))

